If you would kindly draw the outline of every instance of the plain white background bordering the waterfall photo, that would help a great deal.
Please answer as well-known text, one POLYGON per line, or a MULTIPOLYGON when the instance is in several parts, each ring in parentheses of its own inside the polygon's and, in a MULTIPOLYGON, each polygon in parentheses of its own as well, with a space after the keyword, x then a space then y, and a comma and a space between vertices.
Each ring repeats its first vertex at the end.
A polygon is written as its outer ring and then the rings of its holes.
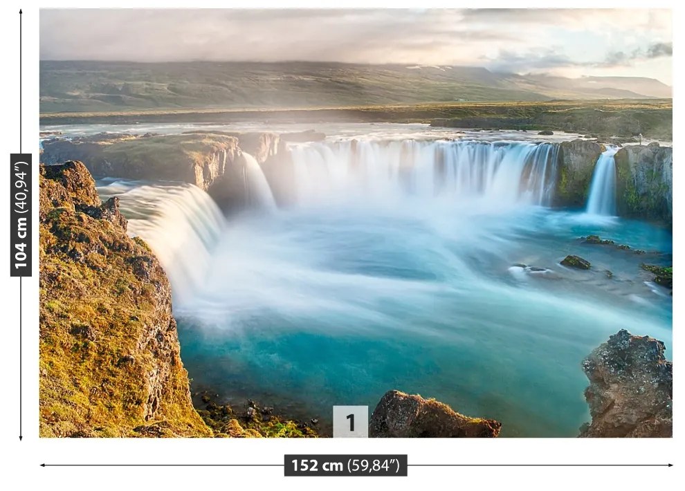
MULTIPOLYGON (((277 3, 259 1, 214 1, 188 2, 167 0, 150 1, 63 1, 60 7, 283 7, 283 6, 325 6, 319 1, 277 3)), ((0 17, 2 36, 3 73, 0 77, 2 102, 1 135, 2 158, 19 151, 19 8, 24 10, 24 151, 33 151, 37 165, 38 136, 38 70, 39 70, 39 7, 55 7, 39 1, 23 3, 3 2, 0 17), (41 5, 43 3, 43 5, 41 5)), ((337 7, 369 6, 420 6, 427 7, 512 7, 512 3, 480 1, 466 2, 404 1, 347 2, 335 3, 337 7), (418 4, 418 5, 417 5, 418 4)), ((549 1, 522 1, 515 5, 548 8, 549 1)), ((621 7, 621 8, 674 8, 675 26, 685 26, 682 8, 674 7, 675 1, 649 3, 641 1, 600 2, 576 0, 559 2, 554 6, 568 7, 621 7)), ((68 27, 68 28, 71 28, 68 27)), ((296 28, 293 27, 293 28, 296 28)), ((675 30, 675 56, 679 55, 681 31, 675 30)), ((312 41, 316 42, 315 39, 312 41)), ((676 58, 677 59, 677 58, 676 58)), ((676 70, 682 68, 675 64, 676 70)), ((680 94, 681 77, 674 73, 674 93, 680 94)), ((679 107, 679 106, 677 106, 679 107)), ((675 113, 674 134, 682 129, 682 114, 675 113)), ((679 154, 676 143, 675 152, 679 154)), ((676 165, 674 206, 677 220, 674 223, 675 261, 679 263, 681 253, 680 226, 682 209, 679 190, 682 188, 681 172, 676 165)), ((8 160, 6 160, 8 165, 8 160)), ((2 198, 8 203, 8 172, 0 172, 2 198)), ((34 172, 33 210, 37 210, 37 172, 34 172)), ((0 230, 6 239, 2 241, 3 257, 8 257, 9 241, 8 212, 0 213, 0 230)), ((432 485, 446 488, 476 488, 504 490, 528 489, 603 489, 646 490, 667 487, 677 481, 683 482, 682 460, 682 416, 679 408, 682 394, 682 378, 676 376, 675 428, 671 439, 580 439, 580 438, 497 438, 486 439, 404 439, 383 440, 356 438, 332 440, 258 440, 258 439, 39 439, 38 438, 38 264, 37 264, 37 214, 34 214, 33 277, 23 280, 24 284, 24 410, 23 441, 19 441, 19 279, 8 277, 8 264, 2 273, 2 312, 0 373, 2 375, 2 403, 0 404, 0 476, 5 489, 16 489, 19 485, 41 485, 48 490, 179 490, 190 488, 221 489, 248 487, 255 490, 268 489, 347 489, 390 486, 394 489, 417 489, 432 485), (677 452, 677 450, 680 450, 677 452), (666 464, 674 467, 410 467, 405 478, 358 478, 358 477, 309 477, 284 478, 281 467, 40 467, 41 463, 272 463, 283 462, 284 454, 371 454, 406 453, 410 464, 419 463, 614 463, 614 464, 666 464), (681 477, 681 479, 677 479, 681 477), (389 479, 385 481, 384 479, 389 479), (9 487, 6 485, 9 484, 9 487)), ((680 267, 676 266, 679 271, 680 267)), ((680 281, 674 291, 674 344, 682 344, 678 329, 682 327, 682 296, 680 281)), ((619 328, 620 326, 617 326, 619 328)), ((672 346, 667 346, 673 349, 672 346)), ((673 353, 673 351, 672 351, 673 353)), ((675 348, 675 364, 679 367, 679 347, 675 348)), ((676 368, 676 371, 678 369, 676 368)), ((680 373, 677 371, 677 373, 680 373)), ((30 489, 30 487, 29 487, 30 489)))

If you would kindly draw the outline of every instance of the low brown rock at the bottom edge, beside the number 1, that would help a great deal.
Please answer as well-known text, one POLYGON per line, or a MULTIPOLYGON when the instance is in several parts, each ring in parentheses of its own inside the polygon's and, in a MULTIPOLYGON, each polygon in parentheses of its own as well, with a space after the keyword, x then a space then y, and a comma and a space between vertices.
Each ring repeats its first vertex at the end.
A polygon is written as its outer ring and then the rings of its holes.
POLYGON ((373 438, 493 438, 501 423, 469 418, 435 399, 387 391, 369 422, 373 438))

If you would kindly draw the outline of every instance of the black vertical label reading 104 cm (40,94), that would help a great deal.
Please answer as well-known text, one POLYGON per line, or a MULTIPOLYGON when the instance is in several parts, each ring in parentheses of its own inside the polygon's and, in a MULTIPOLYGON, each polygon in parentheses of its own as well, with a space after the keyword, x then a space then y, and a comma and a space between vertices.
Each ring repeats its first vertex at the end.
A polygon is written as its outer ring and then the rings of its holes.
POLYGON ((31 276, 31 154, 10 154, 10 276, 31 276))

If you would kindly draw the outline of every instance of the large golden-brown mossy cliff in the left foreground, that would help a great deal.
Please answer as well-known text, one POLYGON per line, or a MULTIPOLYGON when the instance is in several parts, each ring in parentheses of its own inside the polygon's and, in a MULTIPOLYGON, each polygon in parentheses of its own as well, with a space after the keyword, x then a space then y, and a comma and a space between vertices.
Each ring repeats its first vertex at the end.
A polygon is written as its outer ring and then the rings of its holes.
POLYGON ((41 436, 211 436, 192 407, 171 288, 86 167, 40 167, 41 436))

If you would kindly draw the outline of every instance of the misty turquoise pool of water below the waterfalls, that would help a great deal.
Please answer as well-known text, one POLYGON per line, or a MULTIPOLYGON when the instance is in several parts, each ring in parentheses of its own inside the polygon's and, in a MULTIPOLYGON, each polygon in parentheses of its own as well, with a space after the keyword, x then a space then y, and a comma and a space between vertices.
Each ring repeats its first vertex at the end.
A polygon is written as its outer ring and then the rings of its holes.
POLYGON ((576 436, 587 353, 620 328, 671 345, 671 297, 639 268, 668 257, 578 242, 590 233, 671 251, 646 223, 543 207, 242 216, 176 305, 183 362, 194 390, 293 417, 325 422, 333 405, 373 409, 400 389, 500 420, 502 436, 576 436), (566 254, 593 270, 563 268, 566 254))

